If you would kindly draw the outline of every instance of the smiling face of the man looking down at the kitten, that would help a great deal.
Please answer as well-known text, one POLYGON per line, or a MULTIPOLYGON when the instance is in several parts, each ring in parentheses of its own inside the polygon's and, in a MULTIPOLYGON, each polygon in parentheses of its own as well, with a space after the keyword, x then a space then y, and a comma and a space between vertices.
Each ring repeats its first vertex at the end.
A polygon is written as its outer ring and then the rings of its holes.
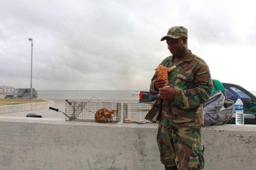
POLYGON ((182 37, 178 39, 169 38, 166 40, 167 47, 174 57, 179 57, 185 50, 182 37))

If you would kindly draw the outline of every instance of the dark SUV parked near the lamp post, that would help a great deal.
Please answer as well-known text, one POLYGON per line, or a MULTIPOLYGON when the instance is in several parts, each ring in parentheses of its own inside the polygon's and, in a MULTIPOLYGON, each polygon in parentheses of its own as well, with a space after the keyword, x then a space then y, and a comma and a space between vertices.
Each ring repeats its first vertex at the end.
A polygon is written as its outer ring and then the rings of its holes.
MULTIPOLYGON (((32 98, 36 99, 38 94, 34 88, 32 92, 32 98)), ((4 99, 30 99, 30 88, 15 89, 12 93, 6 94, 4 99)))

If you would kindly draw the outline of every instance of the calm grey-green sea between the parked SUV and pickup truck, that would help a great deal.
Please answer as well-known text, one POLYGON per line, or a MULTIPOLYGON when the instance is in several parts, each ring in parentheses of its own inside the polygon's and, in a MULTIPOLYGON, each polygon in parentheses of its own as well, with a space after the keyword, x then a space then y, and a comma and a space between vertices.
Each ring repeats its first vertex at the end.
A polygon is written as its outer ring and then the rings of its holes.
POLYGON ((38 99, 125 99, 133 90, 36 90, 38 99))

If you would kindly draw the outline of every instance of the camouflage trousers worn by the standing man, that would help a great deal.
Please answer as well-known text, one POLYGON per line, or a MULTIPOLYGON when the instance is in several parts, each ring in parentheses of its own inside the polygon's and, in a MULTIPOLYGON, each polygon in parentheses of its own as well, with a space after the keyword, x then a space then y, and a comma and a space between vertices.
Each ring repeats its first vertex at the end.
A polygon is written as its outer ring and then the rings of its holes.
POLYGON ((165 166, 179 170, 204 168, 204 146, 201 127, 166 127, 158 125, 157 144, 165 166))

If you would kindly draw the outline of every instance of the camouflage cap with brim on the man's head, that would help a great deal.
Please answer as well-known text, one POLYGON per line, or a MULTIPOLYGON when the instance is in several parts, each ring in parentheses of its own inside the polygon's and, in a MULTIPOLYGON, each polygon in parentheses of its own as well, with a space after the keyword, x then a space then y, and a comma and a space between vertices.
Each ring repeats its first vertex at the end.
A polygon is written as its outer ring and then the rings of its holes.
POLYGON ((168 30, 167 35, 165 35, 161 39, 161 41, 166 40, 167 37, 178 39, 182 36, 188 38, 188 29, 185 28, 184 26, 174 26, 168 30))

